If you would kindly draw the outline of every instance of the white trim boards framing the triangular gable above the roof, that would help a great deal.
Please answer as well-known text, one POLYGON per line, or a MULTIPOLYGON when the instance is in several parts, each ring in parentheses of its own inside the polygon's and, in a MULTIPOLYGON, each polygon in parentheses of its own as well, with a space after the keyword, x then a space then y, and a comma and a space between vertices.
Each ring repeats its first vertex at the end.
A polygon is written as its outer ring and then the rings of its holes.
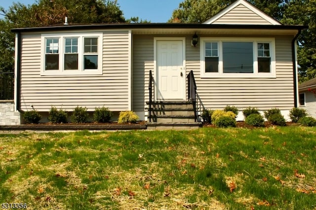
MULTIPOLYGON (((221 19, 228 13, 233 12, 233 10, 240 5, 246 7, 246 9, 256 14, 261 19, 265 20, 267 22, 266 24, 268 25, 282 25, 280 22, 276 21, 274 18, 270 17, 269 15, 267 15, 266 13, 264 13, 263 11, 261 11, 260 9, 258 9, 257 7, 255 7, 254 5, 252 5, 246 0, 236 0, 235 2, 233 2, 229 6, 225 7, 223 10, 218 12, 216 15, 211 17, 210 19, 204 21, 203 24, 214 24, 214 22, 221 19)), ((232 23, 232 24, 238 24, 238 23, 232 23)))

